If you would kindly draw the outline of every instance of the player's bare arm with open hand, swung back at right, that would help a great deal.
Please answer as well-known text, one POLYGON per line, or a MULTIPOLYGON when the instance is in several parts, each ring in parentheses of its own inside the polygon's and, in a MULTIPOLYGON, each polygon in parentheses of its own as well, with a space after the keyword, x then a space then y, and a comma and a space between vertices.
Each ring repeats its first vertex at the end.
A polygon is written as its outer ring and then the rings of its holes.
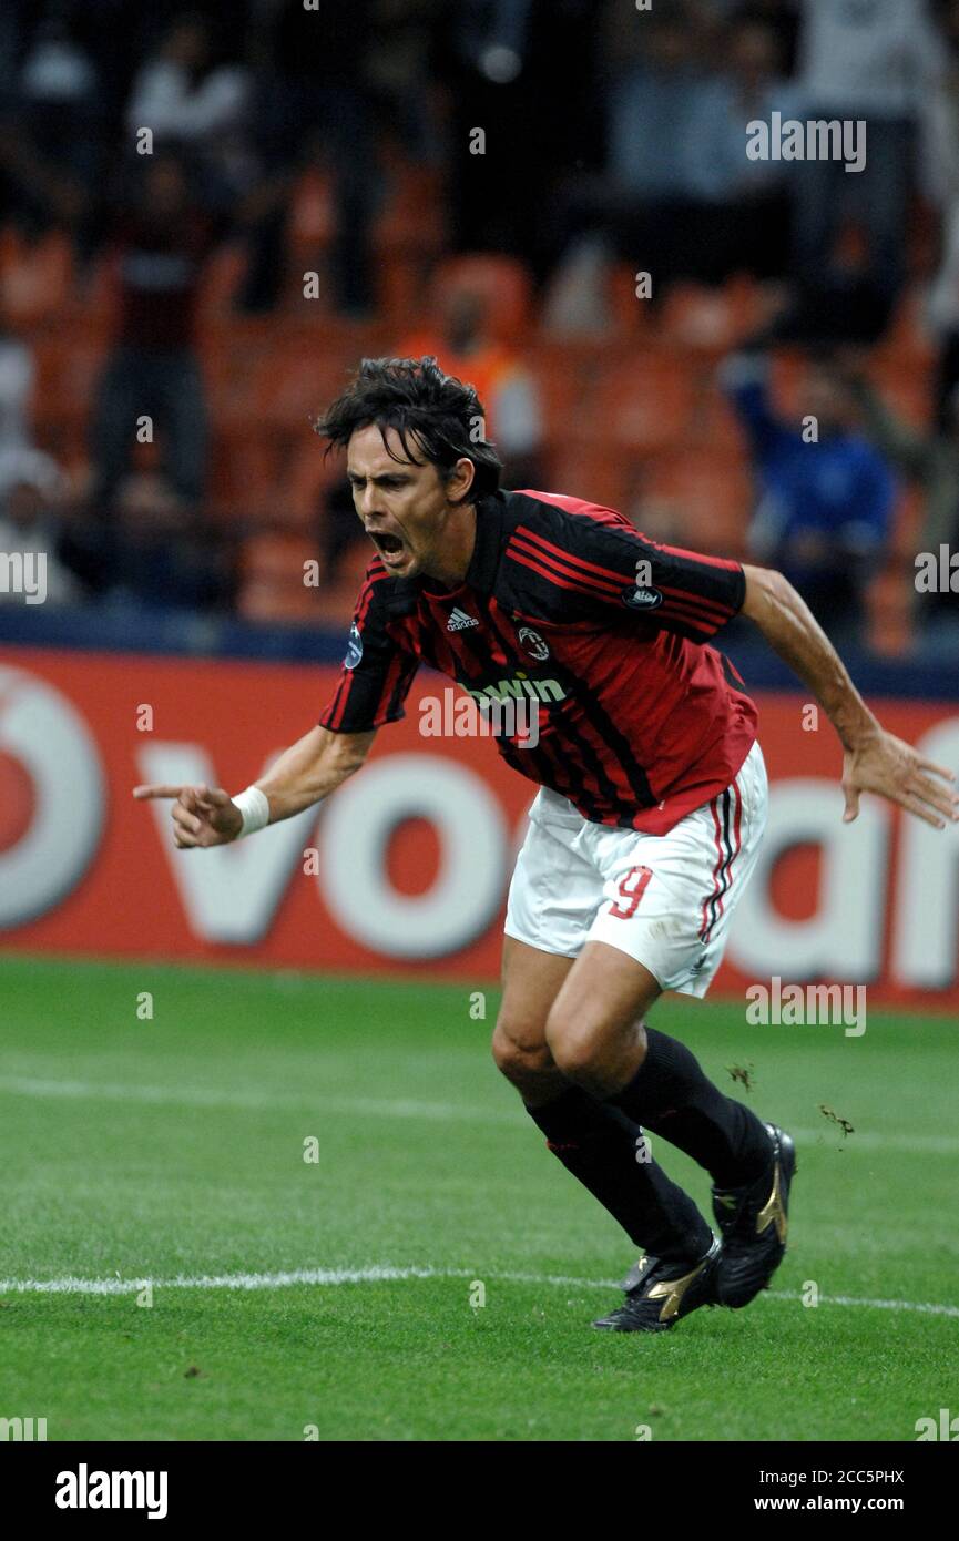
POLYGON ((924 760, 911 744, 885 732, 792 584, 765 567, 743 567, 743 572, 742 613, 809 686, 842 740, 843 820, 850 823, 857 817, 862 792, 877 792, 936 829, 945 829, 945 820, 957 821, 959 795, 942 786, 942 781, 956 780, 953 772, 924 760))

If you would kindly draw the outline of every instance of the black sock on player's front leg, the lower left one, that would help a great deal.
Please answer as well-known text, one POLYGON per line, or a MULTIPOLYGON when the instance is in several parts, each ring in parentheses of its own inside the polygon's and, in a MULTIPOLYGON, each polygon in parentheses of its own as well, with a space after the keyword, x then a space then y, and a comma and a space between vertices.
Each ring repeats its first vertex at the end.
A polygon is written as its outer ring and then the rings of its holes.
POLYGON ((637 1160, 632 1120, 569 1086, 543 1108, 526 1110, 567 1171, 654 1257, 702 1257, 711 1230, 689 1194, 654 1160, 637 1160))

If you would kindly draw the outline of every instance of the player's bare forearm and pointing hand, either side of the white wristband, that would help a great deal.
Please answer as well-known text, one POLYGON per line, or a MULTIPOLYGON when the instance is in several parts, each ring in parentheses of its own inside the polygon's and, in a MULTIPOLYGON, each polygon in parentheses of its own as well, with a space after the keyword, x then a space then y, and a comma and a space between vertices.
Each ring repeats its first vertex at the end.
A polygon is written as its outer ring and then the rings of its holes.
MULTIPOLYGON (((254 783, 267 803, 264 821, 276 824, 321 803, 359 770, 375 737, 376 729, 331 734, 311 727, 254 783)), ((222 787, 153 784, 136 786, 133 795, 139 801, 173 798, 173 838, 182 851, 225 846, 244 832, 244 809, 222 787)))

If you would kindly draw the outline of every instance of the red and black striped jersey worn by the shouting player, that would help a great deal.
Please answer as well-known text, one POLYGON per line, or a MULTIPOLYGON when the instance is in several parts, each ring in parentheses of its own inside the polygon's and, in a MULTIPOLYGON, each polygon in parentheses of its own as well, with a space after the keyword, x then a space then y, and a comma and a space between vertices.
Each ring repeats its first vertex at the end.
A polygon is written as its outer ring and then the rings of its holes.
POLYGON ((739 562, 660 546, 614 509, 498 492, 476 504, 456 589, 393 578, 373 556, 319 721, 396 721, 422 663, 478 703, 537 701, 535 746, 495 738, 513 769, 592 823, 666 834, 729 786, 755 740, 755 706, 706 646, 745 587, 739 562))

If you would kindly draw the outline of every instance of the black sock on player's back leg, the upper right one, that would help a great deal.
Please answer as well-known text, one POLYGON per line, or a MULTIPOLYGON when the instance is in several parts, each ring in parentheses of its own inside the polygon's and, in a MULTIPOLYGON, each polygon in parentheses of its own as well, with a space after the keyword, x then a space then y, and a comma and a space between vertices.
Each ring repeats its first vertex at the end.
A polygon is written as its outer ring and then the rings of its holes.
POLYGON ((739 1188, 769 1165, 769 1134, 751 1108, 714 1086, 685 1043, 646 1028, 646 1059, 609 1103, 739 1188))

